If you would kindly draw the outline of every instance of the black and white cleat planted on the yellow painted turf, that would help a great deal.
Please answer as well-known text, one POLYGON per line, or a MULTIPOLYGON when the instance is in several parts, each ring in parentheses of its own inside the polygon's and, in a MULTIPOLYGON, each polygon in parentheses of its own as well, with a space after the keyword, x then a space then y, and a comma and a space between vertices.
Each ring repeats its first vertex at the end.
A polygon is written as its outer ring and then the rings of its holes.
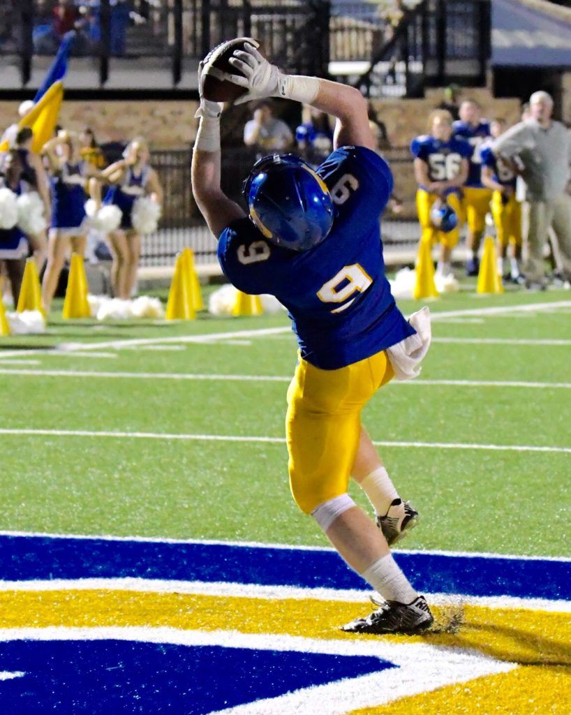
POLYGON ((404 633, 414 636, 432 626, 434 618, 424 596, 417 596, 412 603, 385 601, 367 618, 355 618, 342 626, 347 633, 404 633))

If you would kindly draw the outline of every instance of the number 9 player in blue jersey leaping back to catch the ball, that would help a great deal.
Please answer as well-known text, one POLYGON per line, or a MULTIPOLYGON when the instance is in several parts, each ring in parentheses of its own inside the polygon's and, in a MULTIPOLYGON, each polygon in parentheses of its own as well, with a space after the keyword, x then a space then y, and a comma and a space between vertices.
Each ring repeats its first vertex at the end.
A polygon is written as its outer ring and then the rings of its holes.
MULTIPOLYGON (((223 46, 224 47, 224 46, 223 46)), ((394 543, 417 519, 402 503, 367 433, 361 411, 395 375, 413 377, 430 343, 427 309, 404 319, 384 276, 379 215, 392 175, 374 151, 367 103, 352 87, 282 74, 248 41, 234 51, 247 89, 238 101, 279 96, 337 117, 334 151, 314 171, 291 154, 265 157, 244 187, 247 215, 220 188, 222 105, 202 97, 192 159, 192 189, 224 273, 248 293, 272 293, 287 307, 299 356, 287 393, 289 481, 349 566, 385 599, 344 626, 367 633, 416 633, 432 614, 392 558, 394 543), (359 481, 377 526, 347 493, 359 481)), ((214 68, 220 77, 219 68, 214 68)), ((202 76, 209 74, 209 61, 202 76)), ((214 74, 214 73, 212 73, 214 74)))

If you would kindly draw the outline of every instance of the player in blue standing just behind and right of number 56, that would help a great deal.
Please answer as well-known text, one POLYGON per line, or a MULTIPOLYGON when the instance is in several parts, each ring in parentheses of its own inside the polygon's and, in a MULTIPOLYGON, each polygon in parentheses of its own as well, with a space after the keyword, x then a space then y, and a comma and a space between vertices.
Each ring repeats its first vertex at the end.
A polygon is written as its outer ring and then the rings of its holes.
POLYGON ((482 160, 480 147, 482 142, 490 137, 490 124, 482 119, 482 108, 475 99, 465 99, 460 104, 460 119, 452 124, 457 137, 462 137, 472 147, 470 169, 463 189, 463 212, 468 225, 466 247, 468 257, 466 262, 467 275, 477 275, 480 268, 478 249, 486 227, 486 214, 490 210, 492 192, 482 184, 482 160))

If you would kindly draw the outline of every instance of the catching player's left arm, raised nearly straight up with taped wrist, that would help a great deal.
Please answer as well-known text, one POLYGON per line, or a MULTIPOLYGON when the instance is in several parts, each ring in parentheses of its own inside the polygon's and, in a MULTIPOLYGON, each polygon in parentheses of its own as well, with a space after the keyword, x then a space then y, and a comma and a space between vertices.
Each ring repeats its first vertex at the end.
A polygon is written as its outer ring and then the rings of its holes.
POLYGON ((200 108, 197 139, 192 150, 192 194, 209 229, 217 238, 232 221, 246 214, 220 187, 220 115, 222 104, 202 97, 199 69, 200 108))

